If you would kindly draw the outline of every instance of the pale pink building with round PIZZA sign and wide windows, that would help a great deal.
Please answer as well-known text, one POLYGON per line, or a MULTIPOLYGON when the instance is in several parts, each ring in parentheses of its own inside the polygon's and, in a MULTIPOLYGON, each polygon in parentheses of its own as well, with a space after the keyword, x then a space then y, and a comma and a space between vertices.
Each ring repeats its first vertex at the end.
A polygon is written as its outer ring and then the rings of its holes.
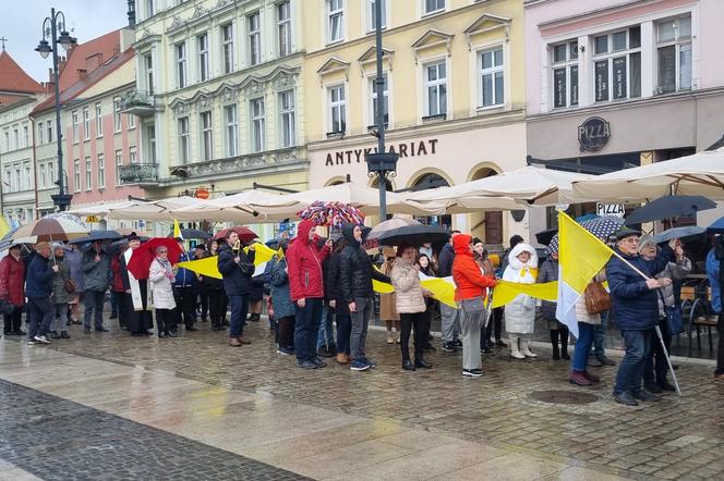
POLYGON ((528 0, 524 11, 532 162, 603 173, 722 138, 724 3, 528 0))

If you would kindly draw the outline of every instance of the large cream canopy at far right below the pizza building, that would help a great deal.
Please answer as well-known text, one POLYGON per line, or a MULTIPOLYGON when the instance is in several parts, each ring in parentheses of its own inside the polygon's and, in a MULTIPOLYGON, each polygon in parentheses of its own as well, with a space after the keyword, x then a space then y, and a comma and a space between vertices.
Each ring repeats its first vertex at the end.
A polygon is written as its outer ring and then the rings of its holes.
POLYGON ((642 201, 669 194, 724 200, 724 148, 576 181, 564 200, 642 201))

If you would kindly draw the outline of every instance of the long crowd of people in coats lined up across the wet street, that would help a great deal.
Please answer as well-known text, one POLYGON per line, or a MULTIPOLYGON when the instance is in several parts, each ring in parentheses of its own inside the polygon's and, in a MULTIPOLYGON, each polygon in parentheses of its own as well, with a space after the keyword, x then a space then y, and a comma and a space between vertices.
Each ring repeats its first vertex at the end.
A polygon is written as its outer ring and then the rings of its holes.
MULTIPOLYGON (((579 334, 571 359, 569 326, 557 319, 556 303, 520 294, 502 308, 488 309, 500 279, 521 284, 556 281, 558 252, 553 245, 539 263, 536 249, 520 236, 514 236, 510 247, 496 256, 488 255, 479 239, 454 231, 439 249, 409 243, 387 248, 377 268, 365 250, 369 231, 345 224, 325 238, 313 222, 303 220, 293 239, 282 238, 274 246, 277 255, 266 262, 263 274, 256 267, 254 242, 243 242, 234 230, 225 238, 196 245, 191 252, 178 239, 183 251, 180 262, 216 256, 221 279, 172 264, 167 245, 153 252, 147 279, 135 279, 128 269, 141 245, 135 234, 110 246, 94 242, 84 250, 38 243, 27 256, 21 255, 21 245, 12 245, 0 261, 4 335, 27 335, 27 343, 34 345, 69 338, 72 323, 82 323, 85 333, 92 329, 106 332, 104 306, 110 291, 111 319, 118 319, 119 326, 133 336, 152 335, 154 317, 159 338, 176 337, 180 326, 194 332, 201 316, 202 322, 210 320, 214 331, 228 328, 228 344, 238 348, 251 344, 244 328, 248 321, 261 320, 266 295, 279 355, 294 356, 297 365, 307 370, 326 367, 322 358, 335 358, 352 371, 366 371, 376 367, 367 353, 366 336, 375 310, 373 281, 378 281, 394 286, 394 294, 381 295, 379 319, 387 324, 387 342, 399 344, 402 370, 433 368, 425 353, 435 350, 431 320, 439 316, 441 349, 461 350, 466 378, 482 377, 483 357, 496 349, 509 348, 514 359, 538 357, 532 336, 536 328, 545 326, 553 359, 570 360, 570 383, 590 386, 600 382, 590 367, 615 365, 605 355, 603 342, 611 314, 626 349, 614 399, 634 406, 675 391, 665 353, 672 335, 678 334, 672 332, 673 320, 680 318, 675 286, 691 270, 679 239, 656 244, 651 236, 629 229, 615 235, 616 255, 589 284, 591 289, 601 289, 607 282, 607 291, 600 295, 608 304, 592 308, 588 295, 579 298, 575 307, 579 334), (436 300, 423 287, 421 274, 451 278, 456 305, 436 300), (23 311, 27 312, 27 332, 22 329, 23 311), (503 324, 507 343, 502 338, 503 324)), ((713 248, 707 269, 711 308, 719 313, 719 261, 713 248)), ((721 347, 720 336, 717 381, 724 381, 721 347)))

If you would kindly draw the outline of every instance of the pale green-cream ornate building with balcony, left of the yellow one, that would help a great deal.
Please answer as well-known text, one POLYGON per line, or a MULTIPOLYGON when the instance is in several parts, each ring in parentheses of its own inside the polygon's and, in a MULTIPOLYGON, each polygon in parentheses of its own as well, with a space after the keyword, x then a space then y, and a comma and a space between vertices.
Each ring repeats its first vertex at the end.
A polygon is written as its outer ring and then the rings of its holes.
POLYGON ((138 116, 141 162, 124 182, 149 198, 306 188, 301 3, 135 5, 137 87, 121 103, 138 116))

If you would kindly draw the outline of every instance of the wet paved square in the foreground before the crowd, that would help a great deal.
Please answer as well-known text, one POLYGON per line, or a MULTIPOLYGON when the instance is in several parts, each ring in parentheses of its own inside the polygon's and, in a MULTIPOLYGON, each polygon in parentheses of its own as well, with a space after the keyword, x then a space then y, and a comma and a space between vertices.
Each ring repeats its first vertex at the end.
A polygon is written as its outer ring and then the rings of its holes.
MULTIPOLYGON (((375 331, 367 355, 376 369, 352 372, 330 361, 326 369, 304 371, 293 358, 276 354, 264 322, 249 326, 253 344, 241 348, 228 347, 224 333, 200 325, 202 331, 182 332, 176 340, 121 332, 84 335, 75 326, 71 340, 49 347, 10 337, 0 341, 0 379, 31 387, 33 395, 58 396, 57 403, 39 402, 50 411, 62 403, 93 409, 93 416, 79 408, 61 417, 75 429, 100 429, 95 420, 102 414, 113 418, 111 424, 132 421, 134 429, 153 430, 138 439, 168 436, 162 443, 174 453, 195 452, 200 445, 224 449, 230 457, 209 455, 213 465, 255 460, 258 469, 289 476, 724 478, 724 384, 712 381, 704 361, 679 361, 684 396, 669 394, 631 408, 611 398, 615 367, 591 369, 602 377, 599 386, 575 387, 567 382, 566 361, 552 360, 543 347, 534 349, 541 357, 524 361, 498 350, 485 358, 485 375, 470 380, 460 375, 459 354, 439 350, 427 356, 433 370, 402 371, 398 347, 375 331)), ((4 400, 12 388, 20 387, 0 383, 5 406, 14 403, 4 400)), ((19 418, 22 408, 11 421, 19 418)), ((48 432, 57 430, 62 427, 48 432)), ((88 440, 88 445, 106 442, 102 436, 88 440)), ((0 478, 2 460, 8 470, 50 478, 8 453, 0 447, 0 478)), ((27 459, 33 456, 41 454, 33 452, 27 459)), ((194 479, 192 471, 182 474, 174 478, 194 479)))

